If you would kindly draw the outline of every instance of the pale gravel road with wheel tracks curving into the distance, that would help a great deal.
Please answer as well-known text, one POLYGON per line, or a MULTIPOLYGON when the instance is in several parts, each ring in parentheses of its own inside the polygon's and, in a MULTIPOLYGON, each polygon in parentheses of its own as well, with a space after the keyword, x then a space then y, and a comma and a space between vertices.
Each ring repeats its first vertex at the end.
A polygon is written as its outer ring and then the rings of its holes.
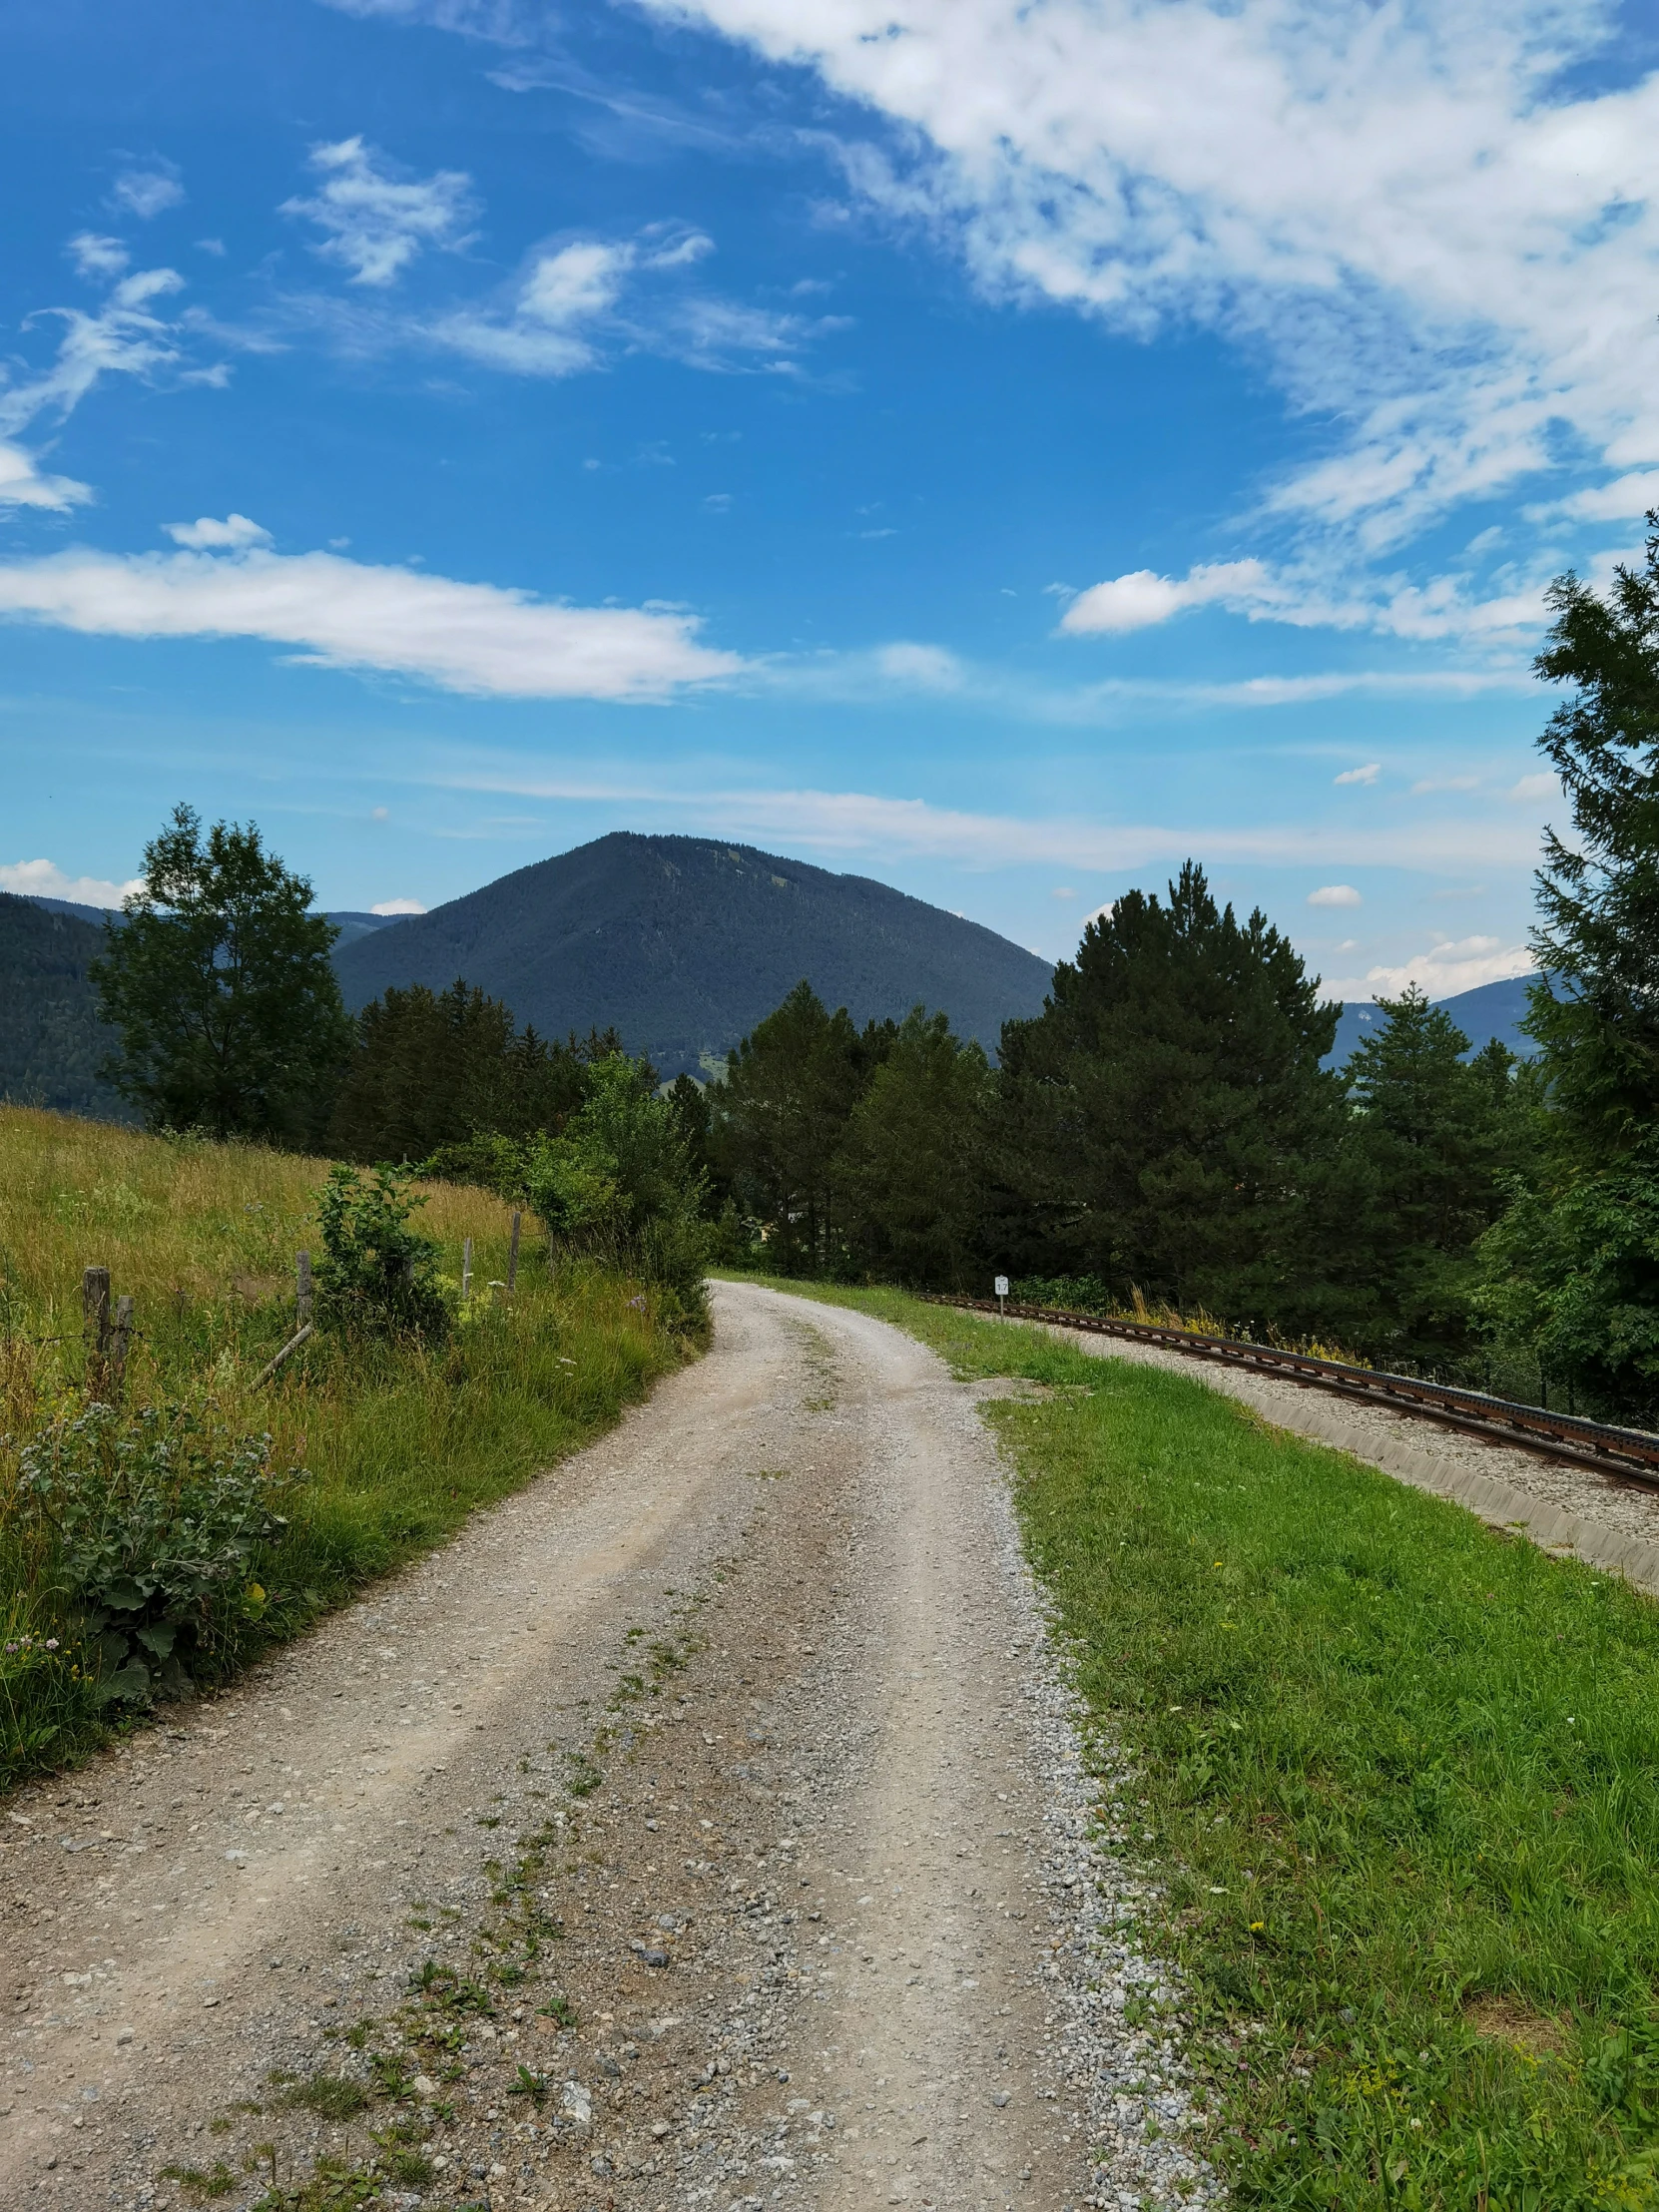
POLYGON ((604 1442, 4 1807, 0 2205, 1217 2197, 984 1387, 714 1314, 604 1442))

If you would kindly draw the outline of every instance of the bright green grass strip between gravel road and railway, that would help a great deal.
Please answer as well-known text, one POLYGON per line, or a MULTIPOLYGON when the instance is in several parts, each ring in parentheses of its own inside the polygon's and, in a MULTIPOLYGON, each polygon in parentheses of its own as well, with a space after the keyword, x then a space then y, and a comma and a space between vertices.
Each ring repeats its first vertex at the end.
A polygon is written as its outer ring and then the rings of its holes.
POLYGON ((1659 2205, 1659 1608, 1186 1376, 807 1294, 1057 1387, 987 1418, 1234 2201, 1659 2205))

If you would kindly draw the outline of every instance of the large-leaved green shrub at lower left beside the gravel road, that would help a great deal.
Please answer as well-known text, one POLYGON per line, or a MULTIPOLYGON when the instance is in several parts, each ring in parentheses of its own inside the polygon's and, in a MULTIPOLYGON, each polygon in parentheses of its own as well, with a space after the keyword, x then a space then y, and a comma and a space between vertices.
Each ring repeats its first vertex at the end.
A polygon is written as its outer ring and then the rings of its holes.
POLYGON ((100 1699, 179 1694, 232 1617, 263 1613, 252 1555, 288 1526, 276 1506, 305 1480, 272 1469, 270 1436, 188 1405, 91 1405, 24 1444, 18 1500, 44 1524, 100 1699))

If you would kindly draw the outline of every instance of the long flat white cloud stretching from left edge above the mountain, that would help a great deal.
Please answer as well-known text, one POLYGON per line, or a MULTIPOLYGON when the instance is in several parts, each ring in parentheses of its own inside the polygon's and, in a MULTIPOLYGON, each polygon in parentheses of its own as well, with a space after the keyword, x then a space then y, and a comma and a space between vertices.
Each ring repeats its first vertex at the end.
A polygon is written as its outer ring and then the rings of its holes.
POLYGON ((697 617, 560 606, 336 553, 58 553, 0 564, 0 615, 97 637, 263 637, 330 668, 378 668, 502 699, 664 699, 737 677, 697 617))

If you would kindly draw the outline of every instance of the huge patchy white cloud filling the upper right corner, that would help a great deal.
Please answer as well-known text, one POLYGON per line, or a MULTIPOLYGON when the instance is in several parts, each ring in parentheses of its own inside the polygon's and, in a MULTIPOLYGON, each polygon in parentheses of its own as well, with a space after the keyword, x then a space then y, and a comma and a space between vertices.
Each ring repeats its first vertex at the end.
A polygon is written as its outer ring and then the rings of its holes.
POLYGON ((1334 425, 1292 520, 1398 540, 1553 467, 1557 427, 1659 460, 1659 75, 1617 82, 1610 4, 648 4, 896 126, 843 146, 854 192, 989 294, 1265 356, 1334 425))

